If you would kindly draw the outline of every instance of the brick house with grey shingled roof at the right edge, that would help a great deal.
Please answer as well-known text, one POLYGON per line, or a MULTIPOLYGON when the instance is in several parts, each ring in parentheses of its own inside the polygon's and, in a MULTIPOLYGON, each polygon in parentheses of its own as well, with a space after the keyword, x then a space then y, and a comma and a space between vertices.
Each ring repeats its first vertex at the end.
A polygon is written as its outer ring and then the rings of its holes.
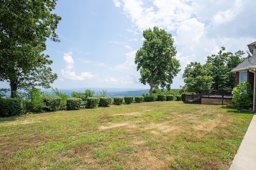
POLYGON ((236 74, 236 85, 240 82, 247 81, 251 84, 253 89, 253 111, 255 110, 255 83, 256 83, 256 41, 248 45, 248 59, 236 66, 231 72, 236 74), (252 56, 250 56, 252 55, 252 56))

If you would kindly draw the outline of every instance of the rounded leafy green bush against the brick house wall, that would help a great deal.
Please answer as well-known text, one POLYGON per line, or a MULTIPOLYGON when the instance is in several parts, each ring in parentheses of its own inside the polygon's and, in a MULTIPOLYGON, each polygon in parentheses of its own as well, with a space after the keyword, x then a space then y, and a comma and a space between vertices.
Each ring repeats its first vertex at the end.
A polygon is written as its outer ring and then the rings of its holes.
POLYGON ((239 85, 233 89, 232 94, 234 96, 233 102, 235 106, 242 109, 252 107, 253 91, 249 82, 240 82, 239 85))

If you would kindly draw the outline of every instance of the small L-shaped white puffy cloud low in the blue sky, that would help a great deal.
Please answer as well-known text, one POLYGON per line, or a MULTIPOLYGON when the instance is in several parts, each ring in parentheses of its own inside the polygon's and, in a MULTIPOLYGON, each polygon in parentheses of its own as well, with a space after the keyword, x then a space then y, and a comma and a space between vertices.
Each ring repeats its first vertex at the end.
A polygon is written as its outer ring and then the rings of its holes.
POLYGON ((91 72, 82 72, 80 76, 77 76, 75 71, 72 71, 74 68, 74 60, 72 58, 72 52, 64 53, 63 60, 66 63, 66 67, 62 69, 61 75, 68 80, 90 80, 93 78, 91 72))

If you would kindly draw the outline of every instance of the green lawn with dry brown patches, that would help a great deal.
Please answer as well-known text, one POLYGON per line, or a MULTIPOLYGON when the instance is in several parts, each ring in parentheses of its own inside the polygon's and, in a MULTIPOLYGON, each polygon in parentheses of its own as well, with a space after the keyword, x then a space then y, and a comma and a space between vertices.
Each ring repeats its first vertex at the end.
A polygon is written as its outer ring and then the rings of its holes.
POLYGON ((0 169, 228 170, 253 115, 147 102, 0 118, 0 169))

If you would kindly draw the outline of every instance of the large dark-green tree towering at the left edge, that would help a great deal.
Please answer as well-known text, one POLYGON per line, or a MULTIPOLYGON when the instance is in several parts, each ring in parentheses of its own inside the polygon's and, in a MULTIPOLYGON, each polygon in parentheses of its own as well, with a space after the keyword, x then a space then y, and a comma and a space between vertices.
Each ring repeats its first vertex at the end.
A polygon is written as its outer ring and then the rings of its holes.
POLYGON ((50 88, 56 80, 42 52, 61 20, 52 14, 57 0, 0 0, 0 81, 10 84, 11 97, 22 88, 50 88))

